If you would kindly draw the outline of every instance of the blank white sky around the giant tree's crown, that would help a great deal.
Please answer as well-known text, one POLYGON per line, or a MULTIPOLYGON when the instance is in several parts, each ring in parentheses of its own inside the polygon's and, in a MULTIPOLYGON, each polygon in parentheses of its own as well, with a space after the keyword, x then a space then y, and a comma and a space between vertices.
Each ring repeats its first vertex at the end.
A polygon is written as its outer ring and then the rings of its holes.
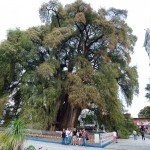
MULTIPOLYGON (((44 2, 49 0, 0 0, 0 41, 6 39, 9 29, 20 28, 26 30, 29 27, 41 25, 39 18, 39 8, 44 2)), ((74 0, 59 0, 63 5, 72 3, 74 0)), ((132 105, 126 107, 132 117, 145 106, 150 106, 150 102, 145 98, 145 87, 150 83, 150 59, 143 47, 145 29, 150 28, 149 0, 84 0, 91 4, 94 10, 98 8, 126 9, 128 11, 127 24, 133 29, 133 34, 138 40, 134 47, 131 65, 137 66, 139 75, 139 95, 134 96, 132 105)))

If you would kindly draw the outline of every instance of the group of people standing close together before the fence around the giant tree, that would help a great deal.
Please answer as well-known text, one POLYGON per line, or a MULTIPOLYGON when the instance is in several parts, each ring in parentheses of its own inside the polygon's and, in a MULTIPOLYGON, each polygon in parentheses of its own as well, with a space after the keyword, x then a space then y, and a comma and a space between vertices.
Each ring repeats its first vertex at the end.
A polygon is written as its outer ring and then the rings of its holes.
POLYGON ((62 130, 62 144, 64 145, 81 145, 86 146, 88 134, 85 129, 77 130, 63 129, 62 130))

